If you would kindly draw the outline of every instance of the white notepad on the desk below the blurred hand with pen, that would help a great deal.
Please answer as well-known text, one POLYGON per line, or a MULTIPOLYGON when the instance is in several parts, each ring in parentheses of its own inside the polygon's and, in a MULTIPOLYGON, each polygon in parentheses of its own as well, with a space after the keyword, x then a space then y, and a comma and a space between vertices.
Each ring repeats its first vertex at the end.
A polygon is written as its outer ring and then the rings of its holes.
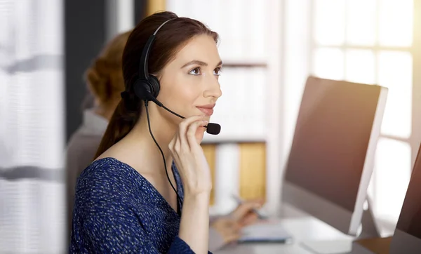
POLYGON ((244 227, 239 242, 276 241, 286 243, 292 239, 293 237, 283 229, 279 220, 263 220, 244 227))

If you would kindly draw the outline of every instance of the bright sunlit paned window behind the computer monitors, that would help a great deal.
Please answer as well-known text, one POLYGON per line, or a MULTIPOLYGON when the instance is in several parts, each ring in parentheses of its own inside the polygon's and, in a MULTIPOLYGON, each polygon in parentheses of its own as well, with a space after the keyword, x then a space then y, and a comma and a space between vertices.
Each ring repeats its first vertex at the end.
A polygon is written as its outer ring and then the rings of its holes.
POLYGON ((312 7, 311 73, 389 88, 369 194, 376 215, 396 222, 419 147, 411 141, 413 1, 314 0, 312 7))

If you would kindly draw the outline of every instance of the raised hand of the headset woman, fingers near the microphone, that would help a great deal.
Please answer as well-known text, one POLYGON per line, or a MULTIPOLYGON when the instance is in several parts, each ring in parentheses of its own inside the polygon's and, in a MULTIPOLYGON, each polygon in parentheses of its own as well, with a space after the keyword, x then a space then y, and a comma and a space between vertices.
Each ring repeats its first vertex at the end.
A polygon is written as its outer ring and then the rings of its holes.
POLYGON ((210 168, 200 140, 196 138, 198 128, 204 128, 208 124, 208 121, 204 120, 205 117, 191 116, 184 119, 168 145, 180 173, 185 196, 209 194, 212 189, 210 168))

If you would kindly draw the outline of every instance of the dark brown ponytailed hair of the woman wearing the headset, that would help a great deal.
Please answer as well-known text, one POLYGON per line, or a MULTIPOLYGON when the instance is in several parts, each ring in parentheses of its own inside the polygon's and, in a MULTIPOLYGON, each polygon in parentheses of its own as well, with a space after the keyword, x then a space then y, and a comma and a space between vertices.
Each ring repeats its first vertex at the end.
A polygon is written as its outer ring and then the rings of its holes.
POLYGON ((149 36, 163 22, 174 18, 175 20, 163 25, 156 34, 148 60, 149 73, 159 74, 163 67, 173 60, 178 50, 194 36, 207 34, 213 37, 215 43, 218 43, 218 34, 208 29, 203 23, 190 18, 178 18, 175 13, 169 11, 154 13, 140 21, 128 36, 123 51, 123 79, 128 98, 121 100, 117 105, 95 158, 124 138, 140 119, 142 102, 135 96, 133 83, 138 79, 143 47, 149 36))

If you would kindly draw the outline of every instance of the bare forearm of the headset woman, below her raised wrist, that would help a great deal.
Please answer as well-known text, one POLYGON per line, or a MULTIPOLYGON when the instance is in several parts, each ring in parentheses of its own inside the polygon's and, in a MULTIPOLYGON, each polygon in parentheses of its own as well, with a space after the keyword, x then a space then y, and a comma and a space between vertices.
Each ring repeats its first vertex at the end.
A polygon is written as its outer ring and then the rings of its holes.
POLYGON ((208 253, 209 194, 185 195, 180 222, 180 239, 189 244, 194 253, 208 253))

